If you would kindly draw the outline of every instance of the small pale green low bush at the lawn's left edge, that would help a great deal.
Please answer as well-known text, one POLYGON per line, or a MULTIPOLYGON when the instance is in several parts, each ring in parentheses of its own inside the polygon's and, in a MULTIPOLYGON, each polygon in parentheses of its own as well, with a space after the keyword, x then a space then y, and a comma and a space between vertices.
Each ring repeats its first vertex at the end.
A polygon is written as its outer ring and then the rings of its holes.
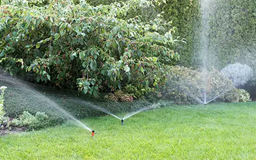
POLYGON ((49 125, 48 116, 42 112, 36 112, 36 115, 31 115, 28 111, 24 111, 23 114, 12 120, 12 125, 19 127, 28 127, 29 129, 40 129, 49 125))

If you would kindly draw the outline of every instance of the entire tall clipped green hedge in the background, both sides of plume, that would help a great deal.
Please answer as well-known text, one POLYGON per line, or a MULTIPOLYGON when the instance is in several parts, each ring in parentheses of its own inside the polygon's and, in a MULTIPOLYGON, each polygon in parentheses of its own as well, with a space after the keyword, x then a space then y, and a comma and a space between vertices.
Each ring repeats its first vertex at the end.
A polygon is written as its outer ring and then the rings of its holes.
MULTIPOLYGON (((118 0, 88 0, 93 5, 114 3, 118 0)), ((198 0, 167 0, 166 4, 156 6, 156 12, 164 12, 165 20, 173 22, 178 28, 177 35, 186 39, 186 45, 177 46, 182 58, 180 65, 193 66, 197 58, 195 53, 200 51, 200 4, 198 0)), ((211 6, 211 30, 209 48, 218 56, 218 65, 223 68, 230 63, 241 62, 256 68, 256 1, 255 0, 216 0, 211 6)), ((148 11, 136 10, 132 15, 153 17, 152 8, 148 11)))

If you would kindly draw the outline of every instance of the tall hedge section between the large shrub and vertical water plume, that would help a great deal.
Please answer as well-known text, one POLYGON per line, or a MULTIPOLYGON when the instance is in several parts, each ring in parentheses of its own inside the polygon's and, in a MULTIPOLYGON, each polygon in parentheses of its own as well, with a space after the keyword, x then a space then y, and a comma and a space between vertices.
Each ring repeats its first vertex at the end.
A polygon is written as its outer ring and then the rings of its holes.
MULTIPOLYGON (((97 6, 99 4, 111 4, 120 2, 121 0, 88 0, 88 3, 97 6)), ((156 7, 136 8, 136 11, 130 10, 122 19, 140 16, 143 20, 154 19, 156 13, 162 13, 163 19, 172 22, 177 28, 176 35, 186 40, 186 44, 175 46, 175 51, 182 55, 179 61, 180 65, 186 67, 195 64, 193 56, 198 51, 196 44, 198 43, 198 32, 200 31, 200 4, 198 0, 180 1, 166 0, 156 7)))

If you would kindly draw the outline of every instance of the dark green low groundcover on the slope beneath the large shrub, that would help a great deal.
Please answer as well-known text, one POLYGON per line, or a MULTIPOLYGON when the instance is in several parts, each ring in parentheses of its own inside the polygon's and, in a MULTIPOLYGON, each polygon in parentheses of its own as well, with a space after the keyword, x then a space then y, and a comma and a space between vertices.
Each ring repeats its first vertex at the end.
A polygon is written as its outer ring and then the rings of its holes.
POLYGON ((136 111, 150 105, 147 100, 134 100, 131 103, 113 102, 104 99, 104 94, 100 95, 98 99, 93 99, 92 97, 84 96, 82 93, 78 95, 76 91, 54 90, 54 88, 47 86, 24 83, 12 77, 6 81, 0 79, 1 85, 8 86, 4 95, 4 111, 10 117, 17 117, 23 111, 29 111, 29 113, 33 114, 36 111, 41 111, 47 113, 47 115, 54 113, 53 116, 61 118, 63 113, 58 111, 60 109, 65 109, 68 114, 70 113, 76 118, 106 115, 102 111, 93 109, 91 105, 79 103, 79 100, 106 108, 111 113, 136 111))

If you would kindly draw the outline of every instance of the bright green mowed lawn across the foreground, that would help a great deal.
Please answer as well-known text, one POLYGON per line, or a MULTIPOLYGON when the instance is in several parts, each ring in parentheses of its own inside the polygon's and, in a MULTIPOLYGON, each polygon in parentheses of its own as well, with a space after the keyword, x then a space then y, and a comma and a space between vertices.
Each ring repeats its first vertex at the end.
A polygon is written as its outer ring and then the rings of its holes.
POLYGON ((256 159, 256 103, 170 106, 0 137, 0 159, 256 159))

